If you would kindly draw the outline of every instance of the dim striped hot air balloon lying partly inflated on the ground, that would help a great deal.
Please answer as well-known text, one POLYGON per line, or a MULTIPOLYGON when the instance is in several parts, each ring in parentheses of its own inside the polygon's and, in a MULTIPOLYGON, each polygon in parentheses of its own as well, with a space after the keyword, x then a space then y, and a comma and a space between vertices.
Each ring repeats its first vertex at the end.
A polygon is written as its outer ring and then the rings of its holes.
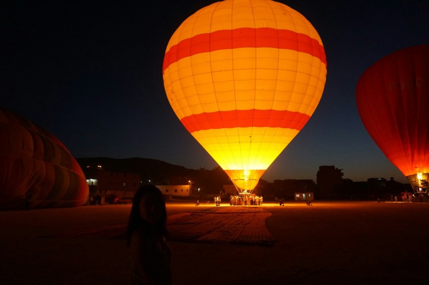
POLYGON ((62 142, 10 110, 0 109, 0 209, 86 203, 85 175, 62 142))

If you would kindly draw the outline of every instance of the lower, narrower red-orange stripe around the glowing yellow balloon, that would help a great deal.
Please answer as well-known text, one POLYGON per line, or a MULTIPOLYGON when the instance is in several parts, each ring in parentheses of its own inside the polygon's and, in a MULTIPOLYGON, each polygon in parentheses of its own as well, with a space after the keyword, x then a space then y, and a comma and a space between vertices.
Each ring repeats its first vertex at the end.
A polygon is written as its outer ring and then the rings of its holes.
POLYGON ((182 124, 194 131, 237 127, 280 127, 301 130, 310 116, 299 112, 278 110, 232 110, 190 115, 182 124))

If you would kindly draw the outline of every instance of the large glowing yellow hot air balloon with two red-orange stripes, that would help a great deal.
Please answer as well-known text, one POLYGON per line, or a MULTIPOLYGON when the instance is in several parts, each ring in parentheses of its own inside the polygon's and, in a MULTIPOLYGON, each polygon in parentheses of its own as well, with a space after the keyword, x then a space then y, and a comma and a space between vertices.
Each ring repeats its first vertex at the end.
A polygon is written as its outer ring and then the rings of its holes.
POLYGON ((326 82, 319 35, 270 0, 225 0, 186 19, 163 64, 168 100, 239 193, 259 178, 313 114, 326 82))

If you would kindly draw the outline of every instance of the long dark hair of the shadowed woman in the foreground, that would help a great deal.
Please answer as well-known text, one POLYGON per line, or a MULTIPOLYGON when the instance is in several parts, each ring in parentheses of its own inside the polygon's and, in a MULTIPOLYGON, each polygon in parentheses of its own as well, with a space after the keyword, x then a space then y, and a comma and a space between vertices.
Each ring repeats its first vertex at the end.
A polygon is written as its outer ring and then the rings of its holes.
POLYGON ((164 199, 163 193, 156 188, 154 185, 143 185, 141 186, 133 197, 133 205, 131 206, 130 219, 128 221, 127 227, 127 245, 129 246, 131 243, 131 236, 135 230, 138 228, 142 228, 144 231, 149 232, 150 228, 153 227, 149 225, 146 221, 141 218, 140 214, 140 201, 141 199, 149 193, 155 194, 161 201, 162 205, 162 216, 159 221, 154 225, 154 227, 160 231, 164 236, 168 235, 167 231, 167 209, 166 209, 166 201, 164 199))

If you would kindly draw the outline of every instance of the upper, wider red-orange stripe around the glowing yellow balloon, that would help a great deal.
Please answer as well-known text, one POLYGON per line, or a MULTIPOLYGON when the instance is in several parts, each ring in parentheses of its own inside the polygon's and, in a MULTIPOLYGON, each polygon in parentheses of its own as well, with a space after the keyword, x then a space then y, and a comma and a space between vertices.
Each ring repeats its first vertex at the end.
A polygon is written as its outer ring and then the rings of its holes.
POLYGON ((170 64, 182 58, 202 52, 242 47, 291 49, 311 54, 327 64, 323 45, 308 35, 273 28, 238 28, 199 34, 171 46, 164 56, 163 74, 170 64))

